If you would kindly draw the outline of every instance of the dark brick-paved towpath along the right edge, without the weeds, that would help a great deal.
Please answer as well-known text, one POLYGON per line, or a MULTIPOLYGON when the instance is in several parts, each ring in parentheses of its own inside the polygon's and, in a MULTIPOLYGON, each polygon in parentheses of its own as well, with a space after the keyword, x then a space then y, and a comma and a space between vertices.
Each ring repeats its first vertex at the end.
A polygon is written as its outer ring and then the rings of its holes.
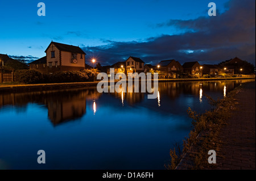
POLYGON ((255 170, 255 82, 245 83, 236 95, 238 110, 233 112, 218 135, 222 142, 216 169, 255 170))

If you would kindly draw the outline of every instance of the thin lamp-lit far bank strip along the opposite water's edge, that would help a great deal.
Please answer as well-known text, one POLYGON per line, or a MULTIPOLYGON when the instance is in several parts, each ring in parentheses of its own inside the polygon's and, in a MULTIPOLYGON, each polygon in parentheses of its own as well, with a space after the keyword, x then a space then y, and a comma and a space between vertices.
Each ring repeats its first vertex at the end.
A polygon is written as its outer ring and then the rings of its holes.
MULTIPOLYGON (((158 82, 200 82, 200 81, 228 81, 240 79, 255 79, 255 78, 188 78, 188 79, 158 79, 158 82)), ((38 91, 38 90, 61 90, 80 87, 95 87, 98 82, 72 82, 72 83, 40 83, 30 85, 1 85, 0 92, 15 92, 15 91, 38 91)), ((118 82, 118 81, 115 81, 118 82)))

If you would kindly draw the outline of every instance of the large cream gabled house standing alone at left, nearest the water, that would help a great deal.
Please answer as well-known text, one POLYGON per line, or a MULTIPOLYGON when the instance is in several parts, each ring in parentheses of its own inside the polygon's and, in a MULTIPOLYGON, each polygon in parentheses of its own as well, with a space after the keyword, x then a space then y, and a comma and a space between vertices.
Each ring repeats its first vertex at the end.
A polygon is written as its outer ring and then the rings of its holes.
POLYGON ((52 41, 45 52, 47 73, 85 69, 86 53, 80 47, 52 41))

